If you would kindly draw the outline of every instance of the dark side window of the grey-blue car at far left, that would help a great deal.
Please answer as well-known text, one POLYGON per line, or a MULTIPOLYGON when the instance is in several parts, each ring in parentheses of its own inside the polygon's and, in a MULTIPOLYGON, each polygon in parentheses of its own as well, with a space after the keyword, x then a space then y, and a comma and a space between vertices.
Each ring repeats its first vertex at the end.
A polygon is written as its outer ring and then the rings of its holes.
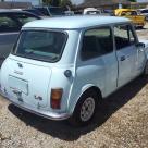
POLYGON ((18 24, 9 16, 0 16, 0 33, 3 32, 17 32, 18 24))

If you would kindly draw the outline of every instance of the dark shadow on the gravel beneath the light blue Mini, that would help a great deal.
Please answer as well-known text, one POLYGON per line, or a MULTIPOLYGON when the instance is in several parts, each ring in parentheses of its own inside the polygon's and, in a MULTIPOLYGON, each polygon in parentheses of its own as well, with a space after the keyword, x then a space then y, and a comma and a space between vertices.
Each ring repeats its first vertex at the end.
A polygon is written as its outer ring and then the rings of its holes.
POLYGON ((101 126, 114 112, 127 103, 140 89, 148 83, 148 78, 138 77, 128 85, 124 86, 107 99, 102 100, 98 113, 89 125, 85 127, 73 127, 65 121, 51 121, 10 104, 9 110, 26 126, 32 126, 42 133, 62 140, 72 141, 101 126))

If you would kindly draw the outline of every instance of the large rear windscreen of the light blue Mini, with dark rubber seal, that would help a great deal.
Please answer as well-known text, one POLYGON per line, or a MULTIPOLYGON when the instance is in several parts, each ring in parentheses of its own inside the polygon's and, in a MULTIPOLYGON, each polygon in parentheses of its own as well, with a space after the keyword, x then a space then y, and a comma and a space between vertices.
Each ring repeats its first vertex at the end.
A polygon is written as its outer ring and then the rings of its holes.
POLYGON ((57 62, 60 60, 66 35, 61 32, 24 30, 13 53, 29 59, 57 62))

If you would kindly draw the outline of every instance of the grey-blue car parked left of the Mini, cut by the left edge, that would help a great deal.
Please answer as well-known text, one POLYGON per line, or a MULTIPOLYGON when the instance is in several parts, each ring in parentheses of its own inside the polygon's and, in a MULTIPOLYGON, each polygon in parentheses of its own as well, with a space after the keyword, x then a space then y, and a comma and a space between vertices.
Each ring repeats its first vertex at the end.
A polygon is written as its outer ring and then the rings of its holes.
POLYGON ((9 55, 22 26, 40 17, 17 10, 0 10, 0 66, 9 55))

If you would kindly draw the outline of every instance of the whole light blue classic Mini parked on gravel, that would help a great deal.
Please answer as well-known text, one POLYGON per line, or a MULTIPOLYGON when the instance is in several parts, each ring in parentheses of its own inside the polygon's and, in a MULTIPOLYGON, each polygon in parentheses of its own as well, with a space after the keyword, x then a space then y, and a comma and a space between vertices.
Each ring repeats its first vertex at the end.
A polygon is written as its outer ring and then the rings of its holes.
POLYGON ((100 99, 147 72, 145 45, 128 20, 53 17, 23 26, 2 64, 1 90, 24 110, 84 125, 100 99))

